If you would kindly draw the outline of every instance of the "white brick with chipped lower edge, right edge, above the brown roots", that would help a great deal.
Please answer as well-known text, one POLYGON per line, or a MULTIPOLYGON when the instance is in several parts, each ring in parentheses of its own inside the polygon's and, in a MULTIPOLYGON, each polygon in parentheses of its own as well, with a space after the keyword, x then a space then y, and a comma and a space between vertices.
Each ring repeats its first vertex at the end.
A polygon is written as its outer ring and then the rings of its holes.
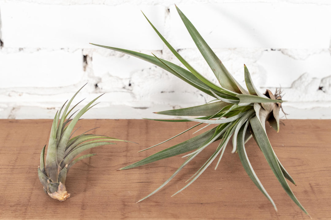
MULTIPOLYGON (((328 50, 315 53, 304 60, 294 59, 281 51, 264 51, 257 62, 260 75, 265 74, 260 87, 291 87, 292 83, 304 73, 315 78, 331 74, 331 56, 328 50)), ((318 88, 316 88, 318 89, 318 88)))

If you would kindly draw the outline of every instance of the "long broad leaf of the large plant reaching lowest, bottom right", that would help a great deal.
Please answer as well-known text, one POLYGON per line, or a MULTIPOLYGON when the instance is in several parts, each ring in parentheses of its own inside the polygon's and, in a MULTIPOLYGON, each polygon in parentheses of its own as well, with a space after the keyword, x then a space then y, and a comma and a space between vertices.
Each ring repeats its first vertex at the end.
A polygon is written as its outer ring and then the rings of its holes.
POLYGON ((269 139, 263 129, 263 126, 262 126, 260 120, 258 119, 257 116, 255 116, 252 119, 250 119, 250 123, 251 123, 252 129, 253 129, 253 137, 254 137, 255 141, 257 142, 257 144, 259 145, 272 172, 275 174, 278 181, 284 188, 285 192, 290 196, 290 198, 295 202, 295 204, 297 204, 307 215, 309 215, 307 213, 307 211, 305 210, 305 208, 300 204, 298 199, 294 196, 291 188, 287 184, 284 174, 279 166, 278 160, 275 156, 275 153, 271 147, 269 139))

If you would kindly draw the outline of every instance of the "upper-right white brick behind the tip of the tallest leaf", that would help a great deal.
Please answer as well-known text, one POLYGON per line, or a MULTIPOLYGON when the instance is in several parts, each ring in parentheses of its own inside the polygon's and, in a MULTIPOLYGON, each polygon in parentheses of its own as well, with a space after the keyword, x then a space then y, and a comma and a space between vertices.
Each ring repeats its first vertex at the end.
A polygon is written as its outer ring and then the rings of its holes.
MULTIPOLYGON (((211 47, 330 47, 331 5, 237 2, 178 6, 211 47)), ((173 46, 195 47, 174 6, 170 17, 173 46)))

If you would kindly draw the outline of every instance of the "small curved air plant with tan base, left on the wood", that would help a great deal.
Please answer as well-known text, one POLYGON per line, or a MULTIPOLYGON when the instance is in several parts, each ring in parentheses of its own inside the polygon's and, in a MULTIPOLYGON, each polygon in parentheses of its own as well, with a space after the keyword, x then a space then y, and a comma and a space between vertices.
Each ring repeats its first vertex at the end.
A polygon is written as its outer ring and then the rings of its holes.
POLYGON ((38 167, 39 180, 44 187, 45 193, 48 194, 51 198, 60 201, 64 201, 70 197, 70 193, 67 192, 65 186, 69 169, 78 161, 96 155, 86 154, 74 159, 78 154, 92 147, 115 144, 111 141, 122 141, 103 135, 86 134, 94 128, 84 132, 81 135, 72 137, 76 130, 74 132, 72 131, 77 121, 80 120, 79 118, 86 111, 95 106, 97 103, 93 103, 101 96, 100 95, 89 102, 81 110, 76 110, 75 112, 71 113, 81 101, 69 110, 71 102, 83 87, 81 87, 74 94, 69 102, 67 100, 68 104, 66 107, 65 105, 67 102, 65 102, 61 109, 56 112, 49 137, 46 160, 44 158, 46 145, 42 149, 40 155, 40 166, 38 167), (60 114, 64 107, 65 109, 60 119, 60 114), (78 113, 73 118, 71 118, 77 111, 78 113))

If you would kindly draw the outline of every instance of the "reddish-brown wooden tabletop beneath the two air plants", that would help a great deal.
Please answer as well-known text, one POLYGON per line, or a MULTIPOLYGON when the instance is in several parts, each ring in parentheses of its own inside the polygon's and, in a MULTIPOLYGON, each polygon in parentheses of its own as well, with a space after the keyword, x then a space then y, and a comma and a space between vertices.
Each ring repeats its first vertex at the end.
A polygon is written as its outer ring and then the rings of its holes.
MULTIPOLYGON (((279 160, 297 186, 290 185, 313 219, 331 219, 331 120, 283 120, 280 132, 267 128, 279 160), (284 123, 284 124, 283 124, 284 123)), ((64 202, 43 191, 37 175, 42 147, 52 120, 0 120, 0 219, 309 219, 287 196, 252 139, 246 149, 253 168, 278 211, 245 173, 232 146, 187 189, 170 197, 213 153, 210 145, 157 194, 136 204, 159 187, 184 162, 181 156, 139 168, 117 169, 184 141, 181 137, 137 153, 185 130, 194 122, 149 120, 80 120, 79 131, 101 127, 96 134, 138 142, 88 150, 98 155, 75 164, 64 202)))

